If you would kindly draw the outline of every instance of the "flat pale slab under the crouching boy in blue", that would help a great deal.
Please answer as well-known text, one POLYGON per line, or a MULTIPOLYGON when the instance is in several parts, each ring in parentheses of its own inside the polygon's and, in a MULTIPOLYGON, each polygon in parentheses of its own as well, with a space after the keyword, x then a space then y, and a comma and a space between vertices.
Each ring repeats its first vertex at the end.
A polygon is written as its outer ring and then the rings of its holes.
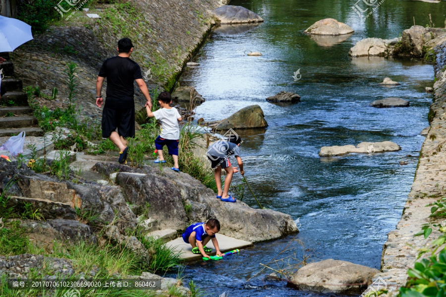
MULTIPOLYGON (((216 235, 217 240, 219 241, 219 247, 220 251, 230 251, 233 249, 241 249, 246 247, 252 247, 252 243, 235 239, 233 237, 225 236, 223 234, 217 234, 216 235)), ((201 260, 202 255, 201 254, 194 254, 192 253, 192 247, 189 244, 186 244, 183 239, 177 238, 172 241, 169 241, 166 244, 168 247, 173 247, 175 251, 181 252, 181 258, 185 259, 186 261, 194 261, 194 260, 201 260)), ((207 247, 212 247, 213 251, 211 253, 208 253, 208 255, 215 255, 215 247, 212 244, 212 241, 210 241, 207 245, 207 247)))

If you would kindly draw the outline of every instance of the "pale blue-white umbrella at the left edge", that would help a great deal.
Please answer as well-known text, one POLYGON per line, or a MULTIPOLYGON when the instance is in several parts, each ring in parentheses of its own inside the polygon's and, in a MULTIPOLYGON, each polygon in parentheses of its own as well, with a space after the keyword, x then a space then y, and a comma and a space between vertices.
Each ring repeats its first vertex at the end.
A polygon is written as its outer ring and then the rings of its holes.
POLYGON ((0 15, 0 52, 13 51, 31 39, 33 35, 30 25, 0 15))

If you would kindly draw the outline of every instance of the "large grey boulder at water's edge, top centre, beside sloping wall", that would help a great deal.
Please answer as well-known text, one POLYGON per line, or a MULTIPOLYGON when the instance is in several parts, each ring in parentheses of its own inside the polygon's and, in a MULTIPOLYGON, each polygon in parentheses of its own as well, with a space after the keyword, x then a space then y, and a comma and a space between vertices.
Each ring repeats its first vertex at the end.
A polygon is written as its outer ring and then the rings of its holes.
POLYGON ((263 19, 242 6, 224 5, 212 10, 221 24, 260 23, 263 19))

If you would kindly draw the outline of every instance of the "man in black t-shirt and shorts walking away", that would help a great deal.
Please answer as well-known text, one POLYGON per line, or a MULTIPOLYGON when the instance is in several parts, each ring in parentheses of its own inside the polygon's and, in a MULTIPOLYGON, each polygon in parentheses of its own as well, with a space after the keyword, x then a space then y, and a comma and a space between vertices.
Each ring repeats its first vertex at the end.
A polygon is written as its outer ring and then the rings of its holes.
POLYGON ((96 81, 96 105, 102 106, 102 84, 107 77, 107 97, 102 112, 102 137, 110 140, 119 148, 119 163, 126 163, 127 141, 125 138, 135 136, 135 102, 133 100, 133 81, 138 84, 147 102, 152 108, 149 90, 141 76, 141 68, 130 59, 133 45, 130 39, 118 41, 119 54, 107 59, 99 71, 96 81), (117 132, 115 131, 117 128, 117 132))

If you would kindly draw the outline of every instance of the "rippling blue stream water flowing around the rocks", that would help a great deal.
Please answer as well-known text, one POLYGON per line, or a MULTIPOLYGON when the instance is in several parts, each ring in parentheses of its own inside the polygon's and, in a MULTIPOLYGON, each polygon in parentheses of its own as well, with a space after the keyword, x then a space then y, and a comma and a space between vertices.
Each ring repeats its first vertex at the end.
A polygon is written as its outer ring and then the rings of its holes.
MULTIPOLYGON (((221 120, 259 104, 269 127, 240 131, 245 176, 257 198, 267 208, 299 218, 296 239, 311 250, 313 260, 334 258, 379 269, 387 233, 401 217, 413 181, 424 141, 419 133, 428 126, 432 102, 424 87, 433 85, 434 73, 432 65, 419 58, 351 58, 348 50, 363 38, 398 37, 414 20, 426 26, 429 13, 433 23, 443 27, 446 1, 385 0, 366 20, 352 10, 354 0, 230 4, 257 12, 265 22, 215 29, 193 59, 200 66, 188 68, 180 84, 194 86, 206 98, 196 119, 221 120), (355 33, 343 41, 303 33, 327 17, 350 25, 355 33), (263 55, 246 56, 247 51, 263 55), (294 81, 298 69, 301 78, 294 81), (379 86, 385 77, 401 85, 379 86), (302 102, 280 106, 265 100, 281 90, 299 94, 302 102), (408 99, 410 107, 368 106, 386 97, 408 99), (331 159, 318 156, 322 146, 386 140, 402 149, 331 159), (408 164, 400 165, 401 160, 408 164)), ((363 1, 358 5, 367 7, 363 1)), ((240 182, 237 176, 234 183, 240 182)), ((247 189, 243 201, 257 207, 247 189)), ((230 297, 319 296, 286 288, 285 282, 264 281, 272 272, 268 269, 256 275, 262 269, 259 263, 276 257, 293 237, 255 244, 224 261, 188 265, 185 279, 209 297, 223 292, 230 297)), ((297 242, 291 247, 302 256, 297 242)))

